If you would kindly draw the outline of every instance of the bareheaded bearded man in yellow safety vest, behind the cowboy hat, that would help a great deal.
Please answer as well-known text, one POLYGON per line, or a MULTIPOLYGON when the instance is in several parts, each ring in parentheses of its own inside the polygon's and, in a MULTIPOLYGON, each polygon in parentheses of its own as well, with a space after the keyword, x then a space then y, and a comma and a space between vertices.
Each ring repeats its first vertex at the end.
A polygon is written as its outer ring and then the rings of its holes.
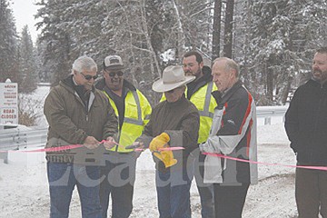
MULTIPOLYGON (((213 85, 210 67, 203 65, 203 57, 198 52, 190 51, 183 55, 183 71, 186 75, 196 77, 192 83, 187 84, 186 97, 199 110, 198 144, 201 144, 208 139, 213 123, 213 111, 217 104, 211 93, 217 88, 213 85)), ((201 214, 203 218, 211 218, 214 217, 213 184, 203 183, 205 155, 201 154, 199 149, 195 150, 193 154, 195 155, 194 177, 201 200, 201 214)))

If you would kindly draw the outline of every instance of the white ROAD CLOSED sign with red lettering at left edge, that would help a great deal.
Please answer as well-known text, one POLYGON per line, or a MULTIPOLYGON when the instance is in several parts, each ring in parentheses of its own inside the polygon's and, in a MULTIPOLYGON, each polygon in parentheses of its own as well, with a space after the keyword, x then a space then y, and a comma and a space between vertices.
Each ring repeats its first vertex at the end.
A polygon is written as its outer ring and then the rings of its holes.
POLYGON ((0 83, 0 124, 18 124, 18 85, 0 83))

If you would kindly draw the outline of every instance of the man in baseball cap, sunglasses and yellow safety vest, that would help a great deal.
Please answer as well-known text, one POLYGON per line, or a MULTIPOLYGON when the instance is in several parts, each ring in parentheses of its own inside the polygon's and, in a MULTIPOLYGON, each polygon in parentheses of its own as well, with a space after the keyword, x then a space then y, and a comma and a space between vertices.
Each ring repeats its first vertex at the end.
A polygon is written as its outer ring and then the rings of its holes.
POLYGON ((144 130, 152 112, 151 105, 133 84, 124 79, 124 64, 118 55, 104 58, 104 78, 96 84, 108 97, 118 117, 118 144, 104 154, 101 173, 100 202, 103 218, 107 217, 109 195, 112 198, 112 217, 127 218, 133 210, 136 159, 139 154, 126 149, 144 130))

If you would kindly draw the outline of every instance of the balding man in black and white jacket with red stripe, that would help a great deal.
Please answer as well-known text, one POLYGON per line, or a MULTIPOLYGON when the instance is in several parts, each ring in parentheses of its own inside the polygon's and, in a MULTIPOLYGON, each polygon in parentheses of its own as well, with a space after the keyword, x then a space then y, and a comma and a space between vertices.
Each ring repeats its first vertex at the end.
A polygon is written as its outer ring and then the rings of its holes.
POLYGON ((257 160, 256 112, 253 96, 239 80, 239 65, 220 57, 213 61, 213 125, 208 140, 200 144, 206 153, 204 183, 213 183, 215 216, 241 218, 251 183, 257 183, 257 165, 223 159, 219 154, 246 161, 257 160))

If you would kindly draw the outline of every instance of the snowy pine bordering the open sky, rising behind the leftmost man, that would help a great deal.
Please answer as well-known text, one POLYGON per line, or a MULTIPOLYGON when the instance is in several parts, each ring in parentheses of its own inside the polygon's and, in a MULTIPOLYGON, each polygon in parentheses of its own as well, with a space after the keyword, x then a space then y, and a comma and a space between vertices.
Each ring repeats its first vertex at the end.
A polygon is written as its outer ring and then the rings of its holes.
MULTIPOLYGON (((36 14, 36 18, 41 18, 41 22, 36 25, 41 28, 40 40, 46 45, 42 57, 43 66, 54 86, 71 73, 74 61, 71 56, 74 34, 68 28, 70 20, 64 20, 64 13, 68 13, 67 8, 70 8, 72 1, 41 0, 36 5, 42 6, 36 14)), ((73 15, 71 19, 74 19, 73 15)))

